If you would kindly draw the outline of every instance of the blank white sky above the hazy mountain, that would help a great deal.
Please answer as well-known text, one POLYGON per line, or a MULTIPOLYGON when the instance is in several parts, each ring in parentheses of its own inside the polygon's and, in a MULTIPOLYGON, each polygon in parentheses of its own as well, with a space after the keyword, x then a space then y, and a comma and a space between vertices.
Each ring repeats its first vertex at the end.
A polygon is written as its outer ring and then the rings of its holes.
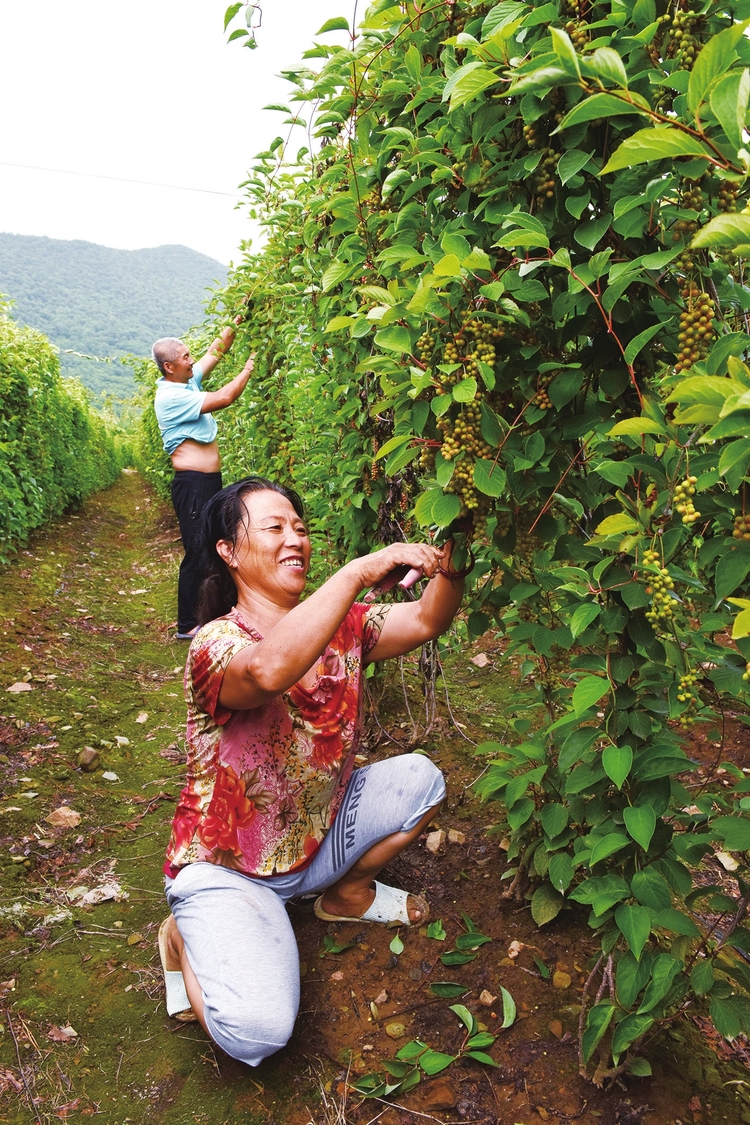
MULTIPOLYGON (((255 51, 227 45, 228 2, 0 0, 0 231, 124 250, 182 243, 236 261, 241 240, 256 237, 235 209, 237 186, 289 128, 283 115, 262 112, 289 105, 291 88, 275 75, 300 62, 327 19, 351 21, 354 0, 265 0, 255 51)), ((229 30, 245 26, 243 15, 229 30)))

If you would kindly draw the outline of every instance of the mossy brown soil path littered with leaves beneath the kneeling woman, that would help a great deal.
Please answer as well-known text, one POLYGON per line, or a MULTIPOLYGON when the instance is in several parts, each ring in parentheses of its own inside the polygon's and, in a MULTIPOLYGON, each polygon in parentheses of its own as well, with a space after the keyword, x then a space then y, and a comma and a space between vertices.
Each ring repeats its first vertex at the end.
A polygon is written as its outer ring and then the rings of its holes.
MULTIPOLYGON (((472 795, 482 768, 475 744, 501 739, 528 702, 491 634, 445 659, 448 698, 430 737, 416 740, 418 678, 408 662, 403 677, 396 668, 379 681, 370 724, 371 758, 419 749, 446 775, 444 842, 433 853, 423 837, 386 872, 425 892, 444 938, 401 928, 398 953, 394 930, 326 925, 311 903, 296 903, 302 1000, 283 1051, 251 1070, 197 1025, 169 1019, 155 939, 183 759, 186 648, 172 620, 179 558, 171 512, 126 472, 3 572, 0 1120, 750 1122, 744 1044, 721 1041, 702 1012, 647 1045, 653 1077, 609 1089, 580 1077, 580 992, 595 952, 585 915, 564 911, 540 930, 524 901, 501 898, 503 840, 487 831, 496 810, 472 795), (488 663, 478 667, 471 660, 481 652, 488 663), (8 691, 18 683, 30 690, 8 691), (88 771, 79 765, 87 747, 98 755, 88 771), (80 821, 51 824, 60 809, 80 821), (97 891, 103 900, 89 903, 97 891), (445 965, 441 955, 471 925, 490 940, 464 964, 445 965), (440 981, 461 993, 436 997, 431 984, 440 981), (503 989, 517 1008, 505 1029, 503 989), (486 1048, 495 1066, 460 1059, 392 1101, 352 1090, 361 1076, 383 1074, 383 1060, 413 1040, 457 1054, 466 1038, 450 1009, 458 1002, 497 1035, 486 1048)), ((713 731, 696 731, 694 756, 706 773, 723 757, 750 764, 744 728, 729 722, 723 747, 713 731)))

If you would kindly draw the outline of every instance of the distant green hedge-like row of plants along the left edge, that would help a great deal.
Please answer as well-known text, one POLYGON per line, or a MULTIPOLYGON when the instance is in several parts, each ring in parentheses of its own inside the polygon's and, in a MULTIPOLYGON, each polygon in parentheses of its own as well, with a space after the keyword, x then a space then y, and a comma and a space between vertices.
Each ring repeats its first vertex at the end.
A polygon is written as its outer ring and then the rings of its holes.
POLYGON ((47 520, 106 488, 130 443, 96 412, 57 352, 0 305, 0 562, 47 520))

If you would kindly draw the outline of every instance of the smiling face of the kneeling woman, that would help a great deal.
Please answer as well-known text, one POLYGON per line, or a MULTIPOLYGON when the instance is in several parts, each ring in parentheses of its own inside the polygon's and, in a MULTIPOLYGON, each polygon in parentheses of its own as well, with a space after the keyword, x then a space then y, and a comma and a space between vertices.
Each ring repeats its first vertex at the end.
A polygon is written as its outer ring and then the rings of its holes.
POLYGON ((296 605, 310 565, 305 522, 277 492, 250 493, 243 503, 246 514, 234 547, 222 540, 217 549, 253 592, 277 604, 296 605))

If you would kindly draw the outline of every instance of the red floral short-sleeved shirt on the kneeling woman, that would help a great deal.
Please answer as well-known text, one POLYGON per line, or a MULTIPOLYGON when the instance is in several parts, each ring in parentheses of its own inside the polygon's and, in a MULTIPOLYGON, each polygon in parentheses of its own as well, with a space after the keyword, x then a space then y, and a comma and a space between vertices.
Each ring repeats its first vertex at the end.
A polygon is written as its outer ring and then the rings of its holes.
POLYGON ((311 688, 296 684, 263 706, 219 702, 227 665, 262 640, 233 610, 190 646, 188 783, 166 850, 170 875, 207 861, 249 875, 307 864, 333 824, 354 764, 362 662, 388 606, 355 603, 318 660, 311 688))

